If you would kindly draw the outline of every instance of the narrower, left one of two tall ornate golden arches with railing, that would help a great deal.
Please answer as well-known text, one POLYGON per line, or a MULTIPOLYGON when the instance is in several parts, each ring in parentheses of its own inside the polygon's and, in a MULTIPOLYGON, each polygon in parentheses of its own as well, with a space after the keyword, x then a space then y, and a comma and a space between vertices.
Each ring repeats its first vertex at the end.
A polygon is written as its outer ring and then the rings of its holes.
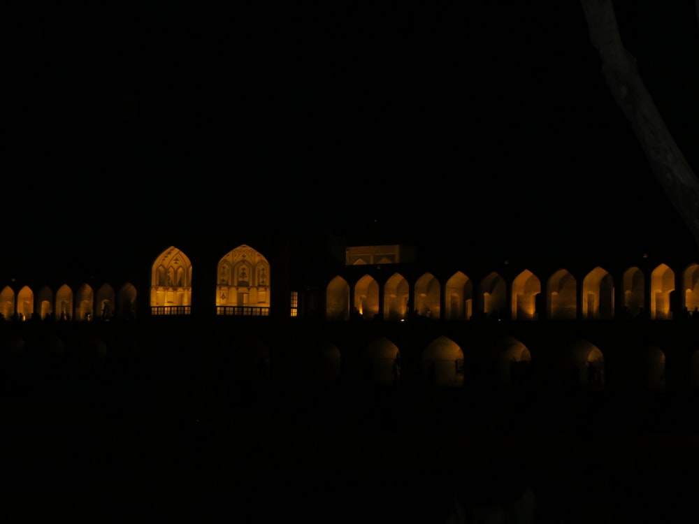
POLYGON ((154 315, 192 312, 192 263, 176 247, 168 247, 153 262, 150 311, 154 315))

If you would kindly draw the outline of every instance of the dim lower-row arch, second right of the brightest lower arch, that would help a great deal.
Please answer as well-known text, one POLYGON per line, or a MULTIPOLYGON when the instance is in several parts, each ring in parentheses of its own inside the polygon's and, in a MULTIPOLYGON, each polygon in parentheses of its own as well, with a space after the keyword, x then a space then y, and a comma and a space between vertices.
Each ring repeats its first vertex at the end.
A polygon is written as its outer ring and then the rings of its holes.
POLYGON ((604 389, 605 357, 589 340, 572 340, 561 352, 559 363, 559 378, 563 384, 570 386, 571 381, 577 381, 582 388, 590 391, 604 389))

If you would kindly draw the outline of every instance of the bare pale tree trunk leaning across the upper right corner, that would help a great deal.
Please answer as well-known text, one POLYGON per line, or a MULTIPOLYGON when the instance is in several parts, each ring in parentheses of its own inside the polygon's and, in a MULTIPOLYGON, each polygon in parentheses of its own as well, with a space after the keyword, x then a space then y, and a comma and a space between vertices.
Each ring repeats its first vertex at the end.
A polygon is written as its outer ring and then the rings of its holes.
MULTIPOLYGON (((621 42, 612 0, 580 0, 602 72, 646 154, 651 170, 699 246, 699 178, 679 150, 621 42)), ((699 18, 699 0, 696 0, 699 18)))

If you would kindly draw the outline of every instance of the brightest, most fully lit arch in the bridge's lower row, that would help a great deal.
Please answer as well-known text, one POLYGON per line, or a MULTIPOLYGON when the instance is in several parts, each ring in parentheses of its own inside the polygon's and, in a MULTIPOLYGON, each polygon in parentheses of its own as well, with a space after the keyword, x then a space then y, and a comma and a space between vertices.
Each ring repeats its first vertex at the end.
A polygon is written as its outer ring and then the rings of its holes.
POLYGON ((459 388, 463 386, 463 351, 444 335, 435 338, 423 351, 421 374, 424 384, 459 388))

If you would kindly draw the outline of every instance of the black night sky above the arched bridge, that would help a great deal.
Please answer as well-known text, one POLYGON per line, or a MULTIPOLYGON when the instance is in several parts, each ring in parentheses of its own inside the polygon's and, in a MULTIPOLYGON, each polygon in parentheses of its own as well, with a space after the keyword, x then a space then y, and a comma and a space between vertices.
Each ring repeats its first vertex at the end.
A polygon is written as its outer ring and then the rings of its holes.
MULTIPOLYGON (((8 235, 31 228, 41 245, 175 221, 298 221, 431 240, 456 228, 484 247, 604 246, 632 229, 628 245, 691 242, 663 232, 682 222, 576 1, 229 4, 55 1, 21 15, 6 76, 8 235)), ((699 170, 693 0, 617 10, 699 170)))

